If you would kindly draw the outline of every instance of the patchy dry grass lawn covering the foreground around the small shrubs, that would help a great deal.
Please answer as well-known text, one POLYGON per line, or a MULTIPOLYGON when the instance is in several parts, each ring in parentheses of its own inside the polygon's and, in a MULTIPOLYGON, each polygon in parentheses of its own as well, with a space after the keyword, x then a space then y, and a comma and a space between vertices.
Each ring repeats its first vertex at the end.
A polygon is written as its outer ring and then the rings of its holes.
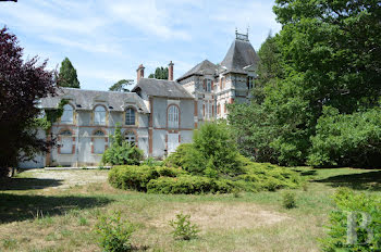
POLYGON ((162 196, 123 191, 108 171, 27 171, 0 180, 0 251, 101 251, 94 226, 121 211, 136 224, 136 250, 319 251, 330 196, 337 186, 381 194, 381 171, 296 167, 309 182, 294 190, 297 207, 282 207, 282 191, 162 196), (190 214, 199 239, 175 241, 169 220, 190 214))

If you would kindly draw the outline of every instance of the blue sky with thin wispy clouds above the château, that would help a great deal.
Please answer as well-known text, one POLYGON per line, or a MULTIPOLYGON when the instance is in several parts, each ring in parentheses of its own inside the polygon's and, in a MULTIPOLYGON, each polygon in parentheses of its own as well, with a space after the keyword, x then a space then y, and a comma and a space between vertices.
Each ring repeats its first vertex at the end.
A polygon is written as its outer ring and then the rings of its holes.
POLYGON ((122 79, 136 80, 157 66, 174 63, 174 77, 205 59, 223 60, 235 34, 246 33, 256 50, 281 25, 272 0, 19 0, 0 2, 7 25, 25 56, 49 59, 54 68, 67 56, 81 87, 107 90, 122 79))

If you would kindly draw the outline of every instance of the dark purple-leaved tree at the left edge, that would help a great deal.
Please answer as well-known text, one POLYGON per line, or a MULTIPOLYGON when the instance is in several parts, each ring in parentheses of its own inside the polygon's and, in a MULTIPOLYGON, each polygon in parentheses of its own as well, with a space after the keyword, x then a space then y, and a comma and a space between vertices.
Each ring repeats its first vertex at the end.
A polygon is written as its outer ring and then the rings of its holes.
POLYGON ((38 58, 23 61, 23 48, 8 28, 0 30, 0 174, 45 152, 52 141, 37 137, 38 102, 54 96, 53 72, 38 58))

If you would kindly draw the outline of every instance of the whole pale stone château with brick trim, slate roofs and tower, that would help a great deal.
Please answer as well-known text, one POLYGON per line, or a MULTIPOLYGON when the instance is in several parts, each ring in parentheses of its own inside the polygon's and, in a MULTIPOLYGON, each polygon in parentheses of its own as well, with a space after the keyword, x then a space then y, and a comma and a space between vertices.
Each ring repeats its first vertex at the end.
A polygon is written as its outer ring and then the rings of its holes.
POLYGON ((59 147, 20 166, 98 165, 116 124, 125 140, 146 156, 163 158, 180 143, 190 142, 193 129, 202 122, 225 118, 226 104, 247 101, 257 62, 247 35, 236 33, 220 64, 205 60, 176 80, 170 62, 168 80, 144 78, 140 64, 132 92, 62 88, 59 96, 42 99, 40 104, 51 110, 61 99, 69 100, 61 119, 47 135, 40 133, 41 137, 57 138, 59 147))

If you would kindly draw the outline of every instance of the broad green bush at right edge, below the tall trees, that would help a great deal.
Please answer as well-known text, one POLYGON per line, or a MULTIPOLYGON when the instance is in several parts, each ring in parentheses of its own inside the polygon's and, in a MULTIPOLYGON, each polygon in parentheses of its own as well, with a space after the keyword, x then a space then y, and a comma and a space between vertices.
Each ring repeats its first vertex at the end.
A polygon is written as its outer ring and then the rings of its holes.
POLYGON ((308 164, 314 166, 380 166, 381 110, 340 114, 324 108, 311 137, 308 164))

